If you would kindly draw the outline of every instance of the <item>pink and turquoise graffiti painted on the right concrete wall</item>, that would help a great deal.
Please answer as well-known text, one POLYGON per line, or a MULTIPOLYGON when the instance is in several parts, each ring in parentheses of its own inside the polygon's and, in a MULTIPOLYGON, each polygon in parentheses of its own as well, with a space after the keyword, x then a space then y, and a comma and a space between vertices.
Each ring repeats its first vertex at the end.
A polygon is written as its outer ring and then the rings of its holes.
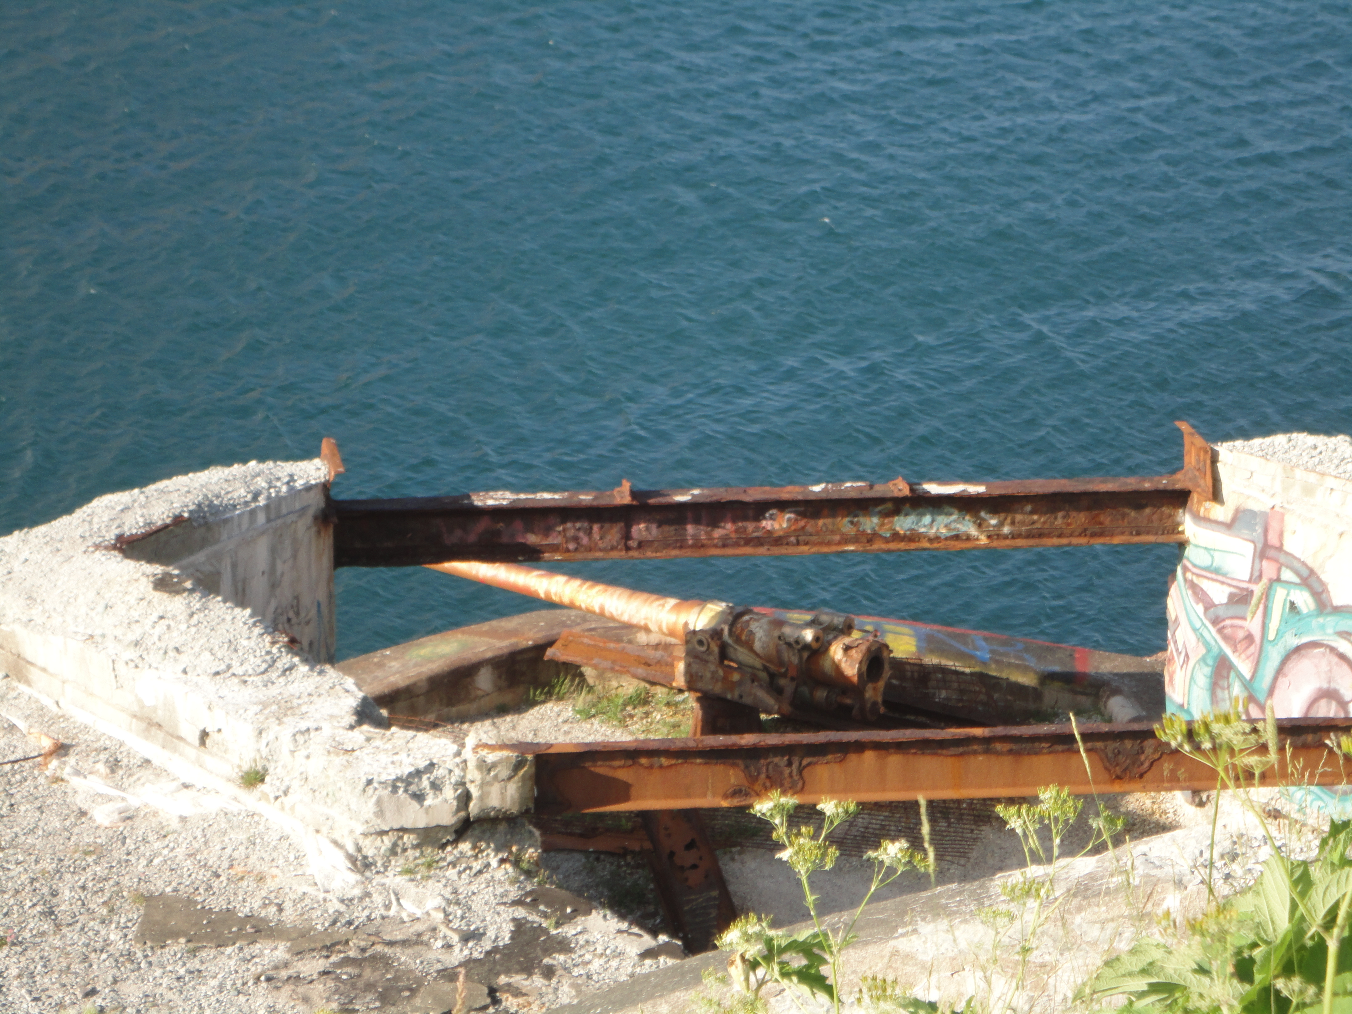
POLYGON ((1226 523, 1188 511, 1169 587, 1169 711, 1195 718, 1236 699, 1260 718, 1352 715, 1352 607, 1282 548, 1282 511, 1241 508, 1226 523))

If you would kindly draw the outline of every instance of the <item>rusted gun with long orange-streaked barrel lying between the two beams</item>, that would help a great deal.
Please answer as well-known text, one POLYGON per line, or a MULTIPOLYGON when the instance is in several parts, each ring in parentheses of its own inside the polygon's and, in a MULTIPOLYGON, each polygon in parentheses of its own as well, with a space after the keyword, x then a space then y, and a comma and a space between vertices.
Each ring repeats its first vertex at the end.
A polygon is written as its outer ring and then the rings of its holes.
POLYGON ((876 635, 856 637, 853 617, 817 612, 794 623, 726 602, 669 599, 519 564, 426 566, 680 641, 676 675, 696 692, 799 717, 844 707, 856 721, 873 722, 883 708, 891 650, 876 635))

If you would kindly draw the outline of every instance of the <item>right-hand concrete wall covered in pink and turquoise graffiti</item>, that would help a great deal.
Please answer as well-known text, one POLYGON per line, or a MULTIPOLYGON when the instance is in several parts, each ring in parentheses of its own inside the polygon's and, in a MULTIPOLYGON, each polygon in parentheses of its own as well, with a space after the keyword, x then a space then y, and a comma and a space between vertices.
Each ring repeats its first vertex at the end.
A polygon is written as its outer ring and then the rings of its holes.
POLYGON ((1352 715, 1352 481, 1242 448, 1214 449, 1217 502, 1187 514, 1168 707, 1352 715))

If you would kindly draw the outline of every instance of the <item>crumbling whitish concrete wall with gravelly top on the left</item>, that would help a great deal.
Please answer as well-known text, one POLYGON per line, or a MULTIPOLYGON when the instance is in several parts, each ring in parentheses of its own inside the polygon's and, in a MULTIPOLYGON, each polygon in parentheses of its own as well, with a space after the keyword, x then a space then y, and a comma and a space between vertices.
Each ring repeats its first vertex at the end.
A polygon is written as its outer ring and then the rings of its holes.
POLYGON ((319 661, 334 644, 327 477, 318 461, 211 469, 0 538, 0 672, 333 854, 529 806, 529 769, 391 729, 319 661), (245 787, 249 769, 266 780, 245 787))

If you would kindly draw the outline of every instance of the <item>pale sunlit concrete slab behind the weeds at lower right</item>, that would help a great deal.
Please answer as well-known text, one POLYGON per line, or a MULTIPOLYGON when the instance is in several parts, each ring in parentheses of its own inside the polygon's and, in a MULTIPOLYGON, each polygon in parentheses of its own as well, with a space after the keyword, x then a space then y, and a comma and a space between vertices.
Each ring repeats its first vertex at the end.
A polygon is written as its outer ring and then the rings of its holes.
MULTIPOLYGON (((1278 799, 1275 792, 1271 799, 1278 799)), ((1229 798, 1222 800, 1220 827, 1217 884, 1234 891, 1257 875, 1263 859, 1270 854, 1268 841, 1252 814, 1229 798)), ((1302 834, 1294 821, 1282 833, 1291 840, 1302 834)), ((991 982, 983 982, 982 976, 1009 986, 1015 975, 1023 975, 1022 991, 1005 998, 1014 1007, 1067 1010, 1075 990, 1105 960, 1129 948, 1137 936, 1161 933, 1167 926, 1176 929, 1206 909, 1210 836, 1210 813, 1199 811, 1194 821, 1176 830, 1128 840, 1115 852, 1063 860, 1057 867, 1055 899, 1048 899, 1056 915, 1030 941, 1022 971, 1017 934, 995 940, 999 927, 1007 929, 1011 923, 992 923, 991 919, 992 914, 1017 907, 1007 895, 1011 886, 1026 875, 1045 877, 1046 867, 1015 868, 875 902, 854 923, 857 938, 845 950, 842 992, 856 996, 861 976, 875 975, 892 980, 903 994, 934 1000, 941 1010, 956 1010, 968 996, 975 995, 977 1003, 986 1002, 991 982)), ((1317 834, 1306 833, 1306 838, 1313 849, 1317 834)), ((784 879, 787 890, 798 890, 787 869, 784 879)), ((837 911, 823 917, 823 922, 838 932, 850 915, 849 910, 837 911)), ((796 933, 811 926, 799 922, 777 929, 796 933)), ((1167 932, 1164 936, 1169 937, 1167 932)), ((698 955, 596 990, 554 1007, 553 1014, 687 1011, 699 1006, 696 998, 708 988, 704 973, 725 971, 727 957, 719 950, 698 955)), ((795 1006, 784 996, 783 1002, 772 999, 769 1010, 771 1014, 787 1014, 795 1006)))

